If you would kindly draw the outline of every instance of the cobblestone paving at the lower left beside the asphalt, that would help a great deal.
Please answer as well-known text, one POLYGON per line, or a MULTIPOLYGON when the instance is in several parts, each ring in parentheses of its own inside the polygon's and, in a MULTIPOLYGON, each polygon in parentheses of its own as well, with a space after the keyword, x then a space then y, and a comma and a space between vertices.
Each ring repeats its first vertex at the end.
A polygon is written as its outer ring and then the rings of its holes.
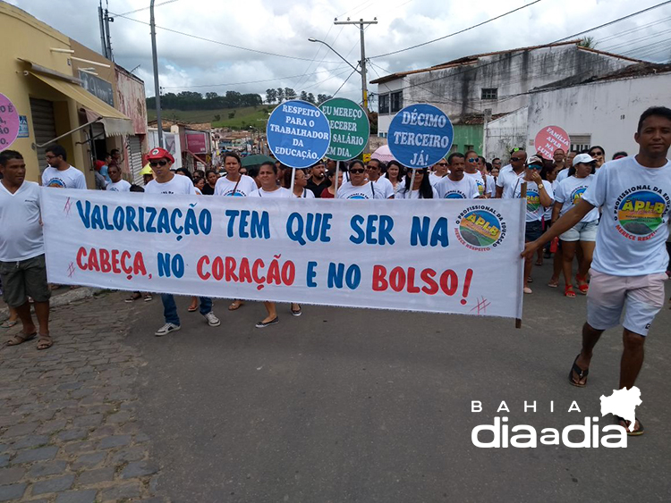
POLYGON ((165 501, 136 422, 143 361, 125 343, 137 314, 123 297, 58 307, 47 351, 0 346, 0 501, 165 501))

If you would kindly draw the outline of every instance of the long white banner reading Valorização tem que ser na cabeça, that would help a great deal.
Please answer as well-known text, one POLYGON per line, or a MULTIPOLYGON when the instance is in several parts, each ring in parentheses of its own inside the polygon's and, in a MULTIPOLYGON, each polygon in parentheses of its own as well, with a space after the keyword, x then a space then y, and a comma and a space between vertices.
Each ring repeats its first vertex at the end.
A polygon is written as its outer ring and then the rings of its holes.
POLYGON ((41 195, 54 283, 521 317, 522 199, 41 195))

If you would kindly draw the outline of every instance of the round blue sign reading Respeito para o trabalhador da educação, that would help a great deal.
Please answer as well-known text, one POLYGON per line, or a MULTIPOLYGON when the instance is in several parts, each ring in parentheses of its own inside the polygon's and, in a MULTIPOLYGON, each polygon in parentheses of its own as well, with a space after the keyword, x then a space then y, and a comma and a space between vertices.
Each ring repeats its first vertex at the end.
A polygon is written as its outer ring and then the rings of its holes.
POLYGON ((326 115, 315 105, 289 100, 268 118, 268 147, 280 163, 307 168, 324 157, 331 141, 326 115))

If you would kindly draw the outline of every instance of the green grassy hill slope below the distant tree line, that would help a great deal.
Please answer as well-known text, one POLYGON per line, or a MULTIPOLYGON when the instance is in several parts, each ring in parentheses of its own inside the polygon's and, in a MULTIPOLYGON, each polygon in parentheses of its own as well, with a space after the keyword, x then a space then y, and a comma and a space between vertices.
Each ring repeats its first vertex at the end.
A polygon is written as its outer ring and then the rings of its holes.
MULTIPOLYGON (((163 110, 161 117, 181 122, 212 122, 213 128, 233 128, 246 130, 250 126, 259 130, 266 129, 268 115, 276 105, 246 106, 243 108, 225 108, 220 110, 163 110)), ((148 109, 149 121, 156 120, 156 110, 148 109)))

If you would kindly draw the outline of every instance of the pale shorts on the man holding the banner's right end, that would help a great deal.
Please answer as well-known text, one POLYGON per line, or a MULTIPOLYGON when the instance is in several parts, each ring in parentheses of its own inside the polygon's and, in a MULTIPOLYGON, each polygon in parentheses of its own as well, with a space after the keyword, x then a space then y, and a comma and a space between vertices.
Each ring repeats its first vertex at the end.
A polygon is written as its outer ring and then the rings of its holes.
POLYGON ((587 323, 596 330, 607 330, 620 324, 639 335, 648 335, 650 324, 664 306, 666 272, 643 276, 611 276, 590 270, 587 293, 587 323))

